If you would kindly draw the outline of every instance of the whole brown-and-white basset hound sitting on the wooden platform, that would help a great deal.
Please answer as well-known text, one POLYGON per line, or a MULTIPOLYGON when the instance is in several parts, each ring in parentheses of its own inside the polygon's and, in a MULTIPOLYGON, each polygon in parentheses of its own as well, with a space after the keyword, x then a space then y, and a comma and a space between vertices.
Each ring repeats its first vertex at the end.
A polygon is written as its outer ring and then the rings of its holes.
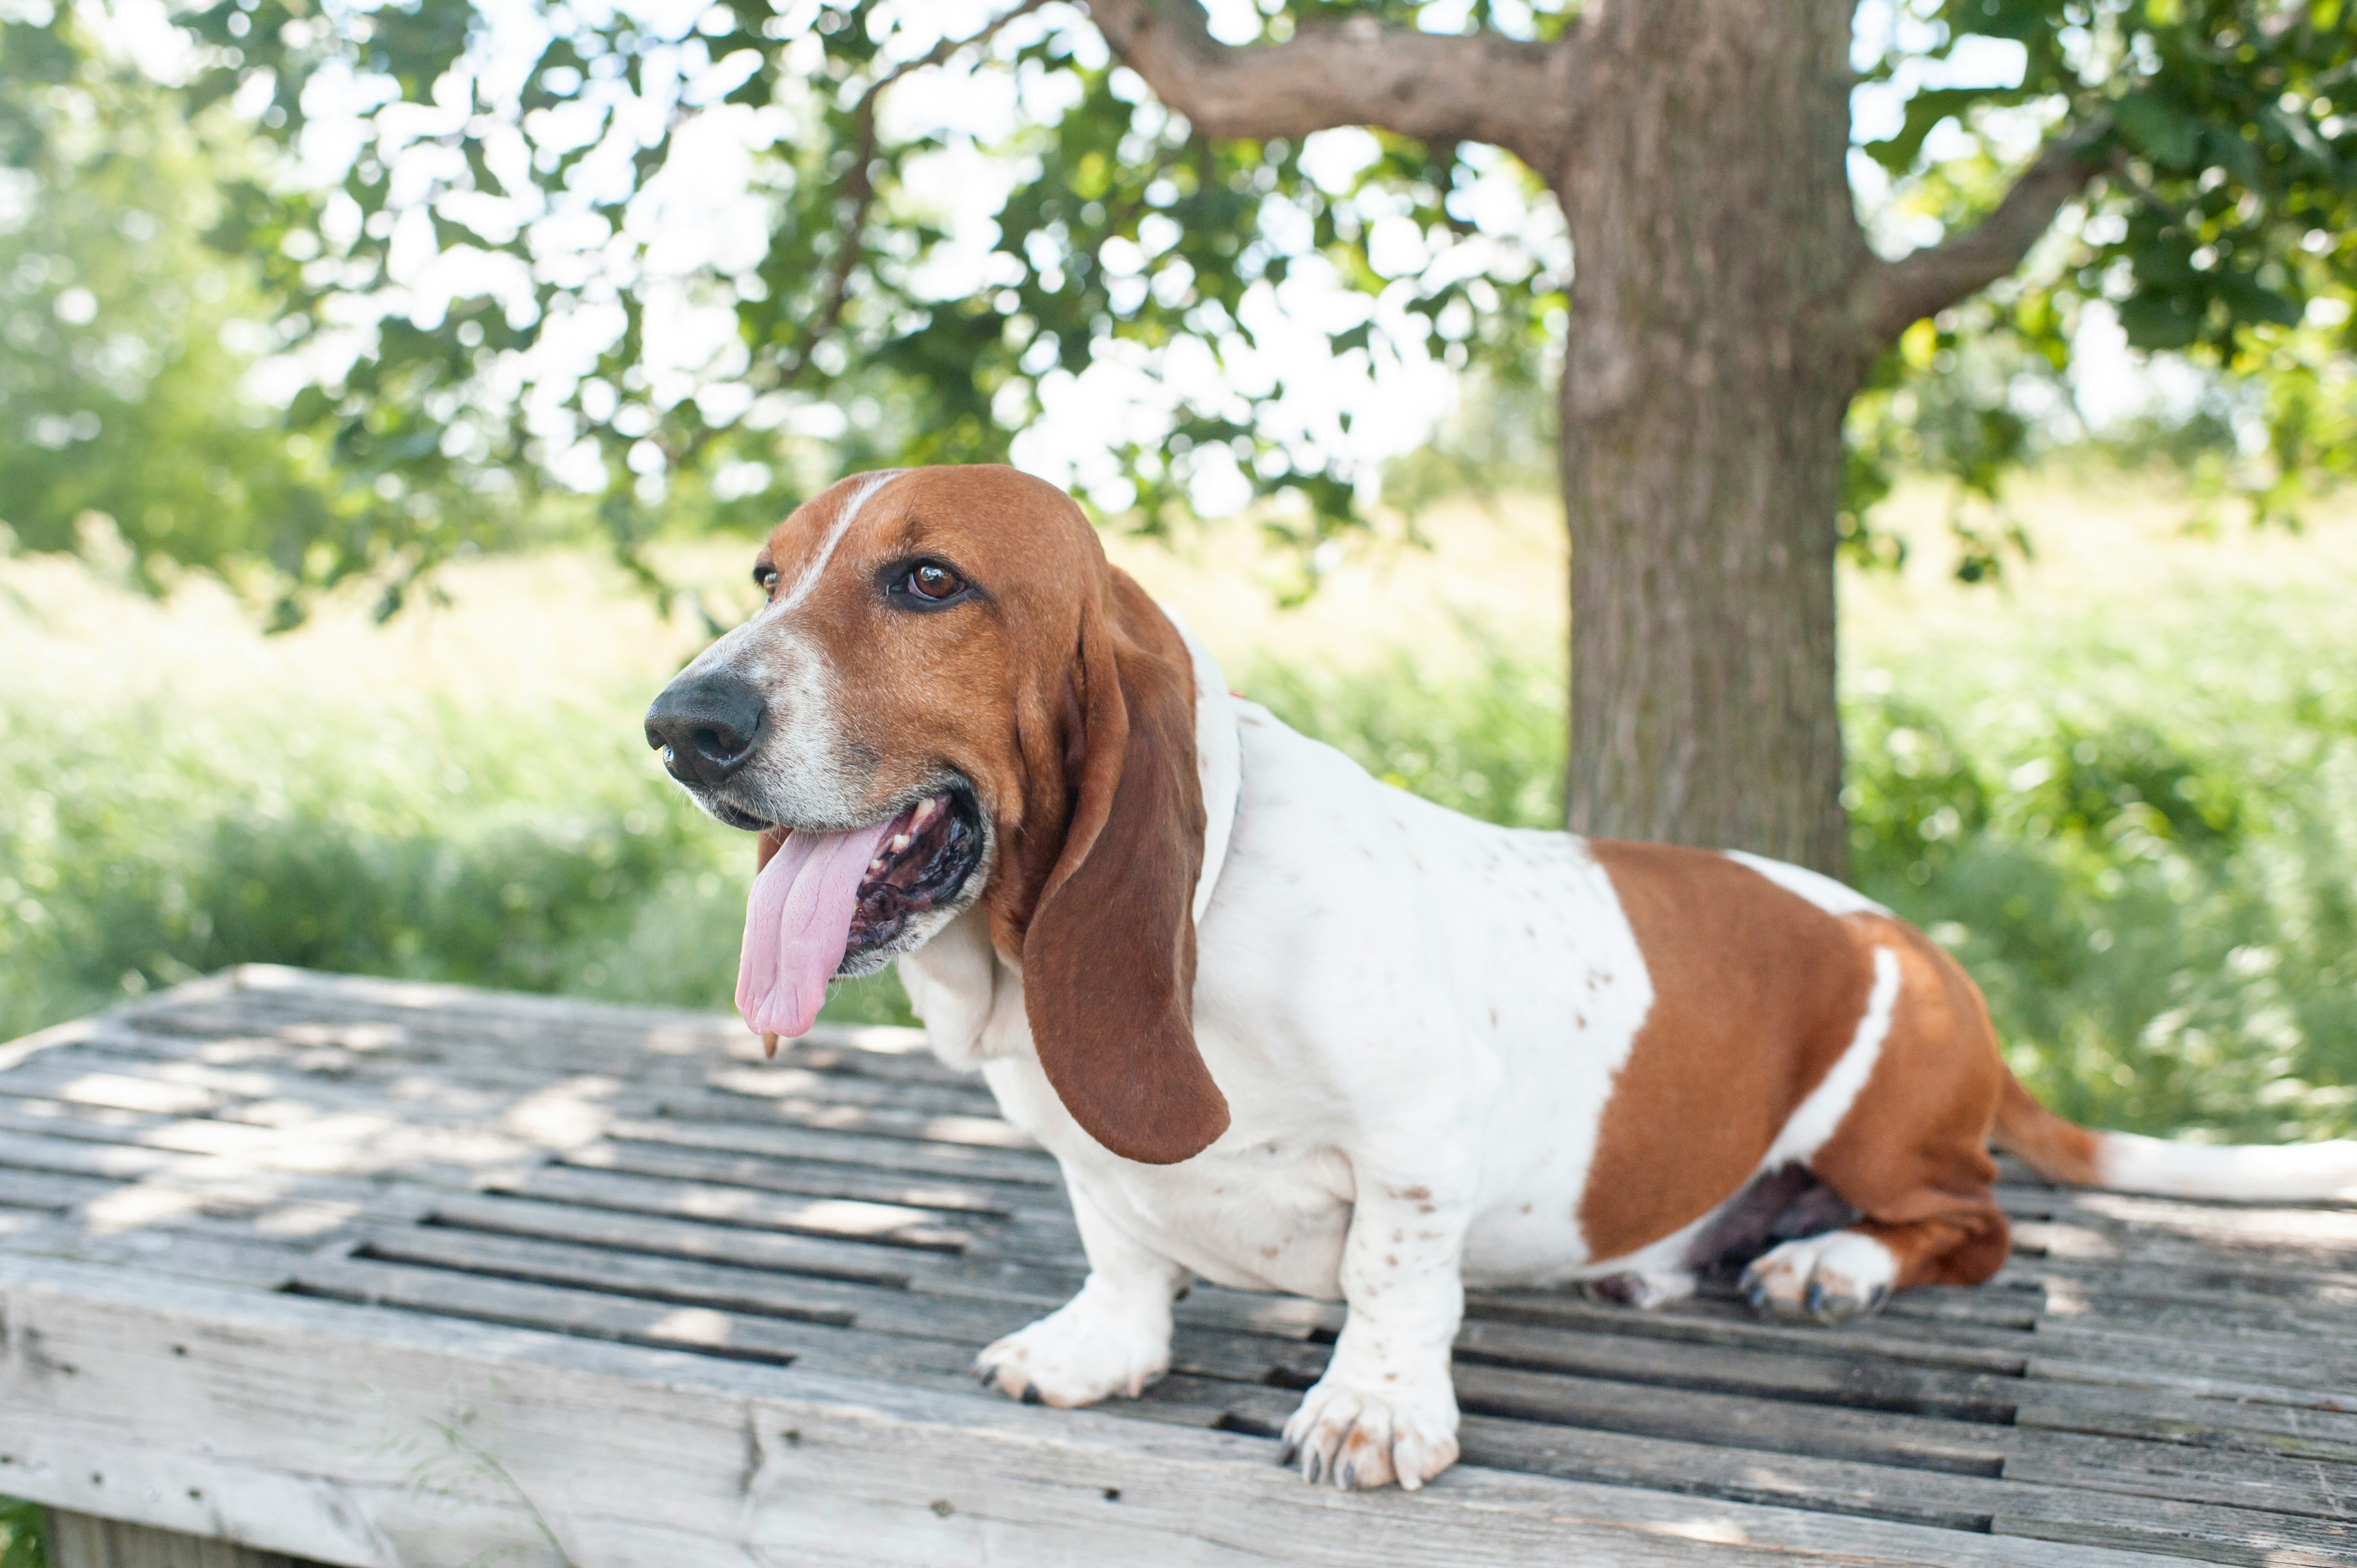
POLYGON ((646 733, 761 835, 745 1021, 799 1035, 898 960, 1063 1167, 1089 1278, 976 1368, 1018 1398, 1141 1394, 1193 1276, 1341 1297, 1285 1455, 1417 1488, 1457 1457, 1466 1285, 1659 1306, 1749 1259, 1758 1311, 1817 1323, 1973 1285, 1992 1141, 2072 1184, 2357 1195, 2357 1144, 2048 1113, 1973 981, 1838 882, 1376 783, 1230 696, 1039 479, 844 479, 754 575, 646 733))

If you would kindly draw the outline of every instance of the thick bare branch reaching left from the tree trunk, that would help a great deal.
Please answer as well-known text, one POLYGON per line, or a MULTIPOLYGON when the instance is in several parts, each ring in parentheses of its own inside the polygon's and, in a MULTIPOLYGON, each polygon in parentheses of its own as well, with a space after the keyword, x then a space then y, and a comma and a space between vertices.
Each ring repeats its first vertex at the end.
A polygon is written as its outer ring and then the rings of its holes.
POLYGON ((1233 47, 1211 38, 1200 0, 1089 0, 1089 17, 1122 64, 1207 137, 1381 125, 1419 141, 1490 141, 1544 167, 1570 123, 1565 45, 1353 17, 1233 47))

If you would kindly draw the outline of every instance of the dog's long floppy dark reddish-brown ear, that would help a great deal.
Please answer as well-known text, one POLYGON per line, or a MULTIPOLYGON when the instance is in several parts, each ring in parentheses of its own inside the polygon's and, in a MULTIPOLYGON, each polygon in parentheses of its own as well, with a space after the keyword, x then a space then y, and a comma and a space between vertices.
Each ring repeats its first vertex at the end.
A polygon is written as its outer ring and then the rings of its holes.
POLYGON ((1023 934, 1023 1012, 1072 1120, 1124 1160, 1176 1165, 1228 1129, 1195 1049, 1195 667, 1120 573, 1082 608, 1075 686, 1072 811, 1023 934))

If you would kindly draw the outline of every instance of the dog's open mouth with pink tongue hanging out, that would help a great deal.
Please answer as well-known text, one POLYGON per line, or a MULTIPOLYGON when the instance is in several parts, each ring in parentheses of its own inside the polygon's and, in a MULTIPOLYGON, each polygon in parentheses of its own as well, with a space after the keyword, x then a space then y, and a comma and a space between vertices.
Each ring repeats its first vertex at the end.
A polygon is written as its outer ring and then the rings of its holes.
POLYGON ((959 896, 983 858, 964 788, 933 790, 882 823, 794 830, 745 901, 738 1012, 761 1035, 806 1035, 827 981, 870 974, 910 920, 959 896))

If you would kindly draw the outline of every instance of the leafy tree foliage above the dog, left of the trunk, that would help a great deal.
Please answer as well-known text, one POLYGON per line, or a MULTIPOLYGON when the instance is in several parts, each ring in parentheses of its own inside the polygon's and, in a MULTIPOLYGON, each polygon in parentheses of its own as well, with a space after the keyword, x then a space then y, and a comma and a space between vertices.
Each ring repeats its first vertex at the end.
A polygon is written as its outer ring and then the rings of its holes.
MULTIPOLYGON (((1044 396, 1108 358, 1155 384, 1162 417, 1080 474, 1091 500, 1162 528, 1209 476, 1289 498, 1273 528, 1315 545, 1355 521, 1365 476, 1351 415, 1289 408, 1294 373, 1273 363, 1277 292, 1301 269, 1367 297, 1327 332, 1346 368, 1539 370, 1560 311, 1544 224, 1539 243, 1520 222, 1485 231, 1461 200, 1487 179, 1530 205, 1534 182, 1501 156, 1379 137, 1320 184, 1299 144, 1193 134, 1072 7, 931 33, 948 9, 559 5, 528 68, 462 0, 332 26, 306 0, 224 0, 196 28, 214 61, 200 92, 269 83, 264 125, 288 149, 318 120, 316 83, 387 99, 335 189, 240 191, 238 238, 269 257, 292 323, 328 330, 354 295, 384 311, 323 406, 460 429, 483 462, 563 467, 625 559, 665 519, 768 519, 841 467, 1004 460, 1044 396), (1018 101, 1006 134, 896 113, 945 66, 983 61, 1018 101), (714 132, 754 149, 764 243, 665 274, 665 182, 714 132), (1004 182, 988 236, 948 231, 926 191, 945 167, 1004 182), (431 250, 509 288, 403 318, 427 224, 431 250), (714 304, 731 340, 681 363, 665 332, 714 304), (594 363, 547 363, 561 332, 599 335, 594 363)), ((358 434, 339 450, 363 469, 415 462, 358 434)))

